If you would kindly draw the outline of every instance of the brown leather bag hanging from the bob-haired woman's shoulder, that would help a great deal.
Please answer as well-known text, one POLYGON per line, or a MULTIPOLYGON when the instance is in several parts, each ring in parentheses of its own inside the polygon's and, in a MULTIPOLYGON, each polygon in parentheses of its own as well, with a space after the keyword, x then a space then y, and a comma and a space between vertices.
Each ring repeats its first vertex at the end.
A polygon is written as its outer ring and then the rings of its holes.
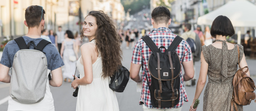
MULTIPOLYGON (((239 58, 240 52, 238 47, 238 67, 240 65, 239 58)), ((249 105, 251 103, 251 100, 255 99, 254 90, 256 89, 256 87, 254 81, 249 77, 249 75, 246 74, 249 70, 248 67, 246 66, 244 68, 240 69, 239 67, 232 81, 234 89, 232 94, 233 97, 231 99, 231 111, 233 111, 233 105, 235 107, 235 111, 238 111, 236 104, 243 106, 249 105), (247 70, 243 71, 244 68, 247 68, 247 70)))

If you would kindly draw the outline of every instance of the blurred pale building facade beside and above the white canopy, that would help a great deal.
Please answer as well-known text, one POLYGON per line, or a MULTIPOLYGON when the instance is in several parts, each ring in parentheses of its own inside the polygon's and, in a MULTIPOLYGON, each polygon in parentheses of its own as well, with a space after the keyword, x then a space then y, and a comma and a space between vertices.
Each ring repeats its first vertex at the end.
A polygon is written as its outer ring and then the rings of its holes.
MULTIPOLYGON (((218 9, 222 5, 232 0, 175 0, 172 2, 172 22, 178 22, 180 24, 189 22, 197 26, 197 19, 200 16, 205 15, 215 9, 218 9), (206 11, 207 10, 207 11, 206 11)), ((256 4, 256 0, 248 0, 251 3, 256 4)), ((201 26, 204 30, 204 26, 201 26)), ((242 31, 246 33, 251 27, 235 27, 235 32, 242 31)))

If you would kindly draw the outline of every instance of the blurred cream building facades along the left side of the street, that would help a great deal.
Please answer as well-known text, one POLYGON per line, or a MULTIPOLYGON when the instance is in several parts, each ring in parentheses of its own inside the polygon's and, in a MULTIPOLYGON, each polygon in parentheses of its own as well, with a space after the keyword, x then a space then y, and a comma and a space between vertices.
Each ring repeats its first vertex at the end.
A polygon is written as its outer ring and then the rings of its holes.
POLYGON ((23 24, 25 9, 30 5, 40 5, 46 11, 45 29, 80 31, 85 16, 92 10, 108 13, 115 22, 124 19, 125 11, 120 0, 1 0, 0 2, 0 42, 3 37, 23 36, 28 28, 23 24), (79 14, 81 7, 81 14, 79 14), (80 16, 79 16, 80 15, 80 16))

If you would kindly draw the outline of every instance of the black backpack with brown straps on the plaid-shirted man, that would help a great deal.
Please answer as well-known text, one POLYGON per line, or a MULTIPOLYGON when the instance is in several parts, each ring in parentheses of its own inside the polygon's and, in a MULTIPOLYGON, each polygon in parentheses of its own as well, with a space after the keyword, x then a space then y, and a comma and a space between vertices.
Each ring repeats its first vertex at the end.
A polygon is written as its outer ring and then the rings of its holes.
POLYGON ((183 40, 176 36, 168 49, 161 46, 159 49, 149 36, 142 38, 151 49, 152 54, 148 59, 148 69, 151 75, 150 90, 151 104, 153 107, 170 108, 179 103, 180 99, 180 71, 181 64, 175 49, 183 40), (161 48, 165 52, 161 52, 161 48))

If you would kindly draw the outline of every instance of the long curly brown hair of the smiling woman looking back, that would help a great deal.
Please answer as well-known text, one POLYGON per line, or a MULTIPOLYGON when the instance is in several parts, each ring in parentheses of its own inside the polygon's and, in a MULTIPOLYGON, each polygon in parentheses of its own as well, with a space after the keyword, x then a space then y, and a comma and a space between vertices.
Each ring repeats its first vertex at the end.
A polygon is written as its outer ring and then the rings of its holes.
MULTIPOLYGON (((103 11, 90 11, 87 16, 94 16, 98 25, 95 42, 96 49, 102 58, 102 77, 111 77, 122 66, 122 49, 118 32, 111 18, 103 11)), ((83 36, 83 30, 81 36, 83 36)))

